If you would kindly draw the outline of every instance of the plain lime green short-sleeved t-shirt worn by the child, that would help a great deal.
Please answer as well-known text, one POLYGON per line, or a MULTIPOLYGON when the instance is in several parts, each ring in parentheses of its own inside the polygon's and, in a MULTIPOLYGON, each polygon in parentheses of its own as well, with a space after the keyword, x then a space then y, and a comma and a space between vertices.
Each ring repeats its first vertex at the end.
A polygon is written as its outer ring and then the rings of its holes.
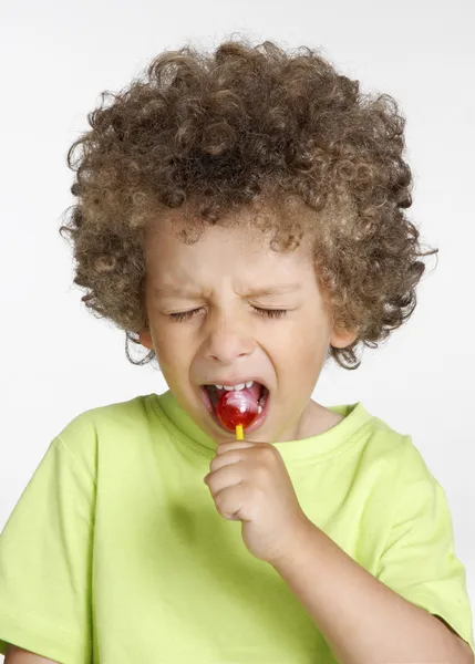
MULTIPOLYGON (((304 513, 472 649, 444 490, 361 404, 276 443, 304 513)), ((216 443, 169 392, 87 411, 51 443, 0 536, 0 652, 61 664, 334 664, 277 571, 203 478, 216 443)))

